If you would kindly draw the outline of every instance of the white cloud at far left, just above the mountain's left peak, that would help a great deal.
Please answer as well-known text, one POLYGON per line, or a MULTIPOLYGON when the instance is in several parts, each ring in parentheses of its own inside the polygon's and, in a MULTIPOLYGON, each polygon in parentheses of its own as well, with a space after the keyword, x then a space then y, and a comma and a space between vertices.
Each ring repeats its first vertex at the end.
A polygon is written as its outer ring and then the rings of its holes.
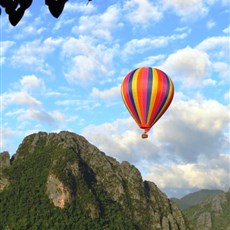
POLYGON ((38 99, 43 93, 42 90, 45 94, 46 89, 41 78, 35 75, 25 75, 13 87, 14 90, 9 89, 2 95, 2 105, 5 110, 4 118, 6 120, 13 118, 20 125, 31 121, 51 126, 65 121, 66 117, 62 112, 51 109, 46 111, 44 104, 38 99), (37 97, 35 97, 35 94, 37 97))

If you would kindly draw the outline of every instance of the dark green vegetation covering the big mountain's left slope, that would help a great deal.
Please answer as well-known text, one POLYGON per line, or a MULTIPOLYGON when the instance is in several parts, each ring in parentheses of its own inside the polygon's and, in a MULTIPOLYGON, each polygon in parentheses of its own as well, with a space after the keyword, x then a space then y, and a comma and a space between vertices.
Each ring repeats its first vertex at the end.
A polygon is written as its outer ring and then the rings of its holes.
POLYGON ((10 229, 74 229, 74 226, 100 229, 100 226, 109 226, 110 223, 116 227, 134 228, 121 206, 100 186, 93 184, 90 172, 83 171, 84 165, 82 174, 76 178, 64 173, 67 164, 80 161, 78 155, 61 146, 57 151, 55 146, 58 143, 55 141, 45 146, 45 138, 40 138, 36 151, 30 153, 31 138, 33 136, 20 146, 17 152, 19 159, 4 170, 6 177, 10 178, 10 186, 0 195, 0 229, 6 226, 10 229), (76 195, 76 199, 63 209, 55 207, 46 195, 50 171, 76 195), (87 205, 97 207, 100 218, 92 219, 85 207, 87 205))

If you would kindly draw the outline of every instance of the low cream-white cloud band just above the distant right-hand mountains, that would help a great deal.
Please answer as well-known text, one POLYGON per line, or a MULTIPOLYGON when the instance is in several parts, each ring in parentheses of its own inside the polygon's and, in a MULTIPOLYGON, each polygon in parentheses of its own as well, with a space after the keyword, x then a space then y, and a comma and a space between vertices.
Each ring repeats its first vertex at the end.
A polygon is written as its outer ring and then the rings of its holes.
MULTIPOLYGON (((206 159, 207 160, 207 159, 206 159)), ((229 155, 216 156, 209 163, 154 165, 144 179, 154 181, 162 190, 222 189, 227 191, 229 181, 229 155)))

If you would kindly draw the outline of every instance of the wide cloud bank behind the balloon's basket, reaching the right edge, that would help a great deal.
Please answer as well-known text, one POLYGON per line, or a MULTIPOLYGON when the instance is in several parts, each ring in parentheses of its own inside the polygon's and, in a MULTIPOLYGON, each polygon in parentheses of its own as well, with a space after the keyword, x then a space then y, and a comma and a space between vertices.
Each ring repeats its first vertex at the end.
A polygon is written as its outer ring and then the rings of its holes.
POLYGON ((197 162, 227 151, 228 110, 217 101, 179 100, 154 125, 147 141, 140 138, 142 131, 131 118, 90 126, 83 134, 120 160, 138 162, 141 153, 146 161, 197 162))

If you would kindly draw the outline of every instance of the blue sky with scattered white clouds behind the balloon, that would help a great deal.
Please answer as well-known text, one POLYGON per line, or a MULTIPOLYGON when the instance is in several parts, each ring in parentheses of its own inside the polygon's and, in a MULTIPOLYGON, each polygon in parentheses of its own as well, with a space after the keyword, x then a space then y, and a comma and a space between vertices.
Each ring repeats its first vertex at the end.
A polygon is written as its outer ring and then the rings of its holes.
POLYGON ((168 196, 230 187, 229 0, 69 1, 56 19, 33 2, 16 27, 1 15, 1 150, 69 130, 129 161, 168 196), (120 93, 157 67, 175 95, 148 139, 120 93))

